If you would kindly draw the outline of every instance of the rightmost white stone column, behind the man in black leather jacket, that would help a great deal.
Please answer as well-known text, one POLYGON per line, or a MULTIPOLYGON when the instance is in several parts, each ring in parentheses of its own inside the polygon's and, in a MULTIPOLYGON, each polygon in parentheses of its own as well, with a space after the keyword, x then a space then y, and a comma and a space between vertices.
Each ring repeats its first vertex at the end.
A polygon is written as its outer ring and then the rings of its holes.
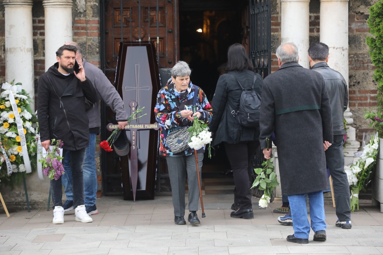
MULTIPOLYGON (((348 0, 321 0, 319 39, 329 46, 329 66, 340 72, 349 84, 349 17, 348 0)), ((350 109, 344 113, 349 137, 345 151, 345 164, 354 159, 354 152, 359 148, 355 139, 355 128, 350 109)))

